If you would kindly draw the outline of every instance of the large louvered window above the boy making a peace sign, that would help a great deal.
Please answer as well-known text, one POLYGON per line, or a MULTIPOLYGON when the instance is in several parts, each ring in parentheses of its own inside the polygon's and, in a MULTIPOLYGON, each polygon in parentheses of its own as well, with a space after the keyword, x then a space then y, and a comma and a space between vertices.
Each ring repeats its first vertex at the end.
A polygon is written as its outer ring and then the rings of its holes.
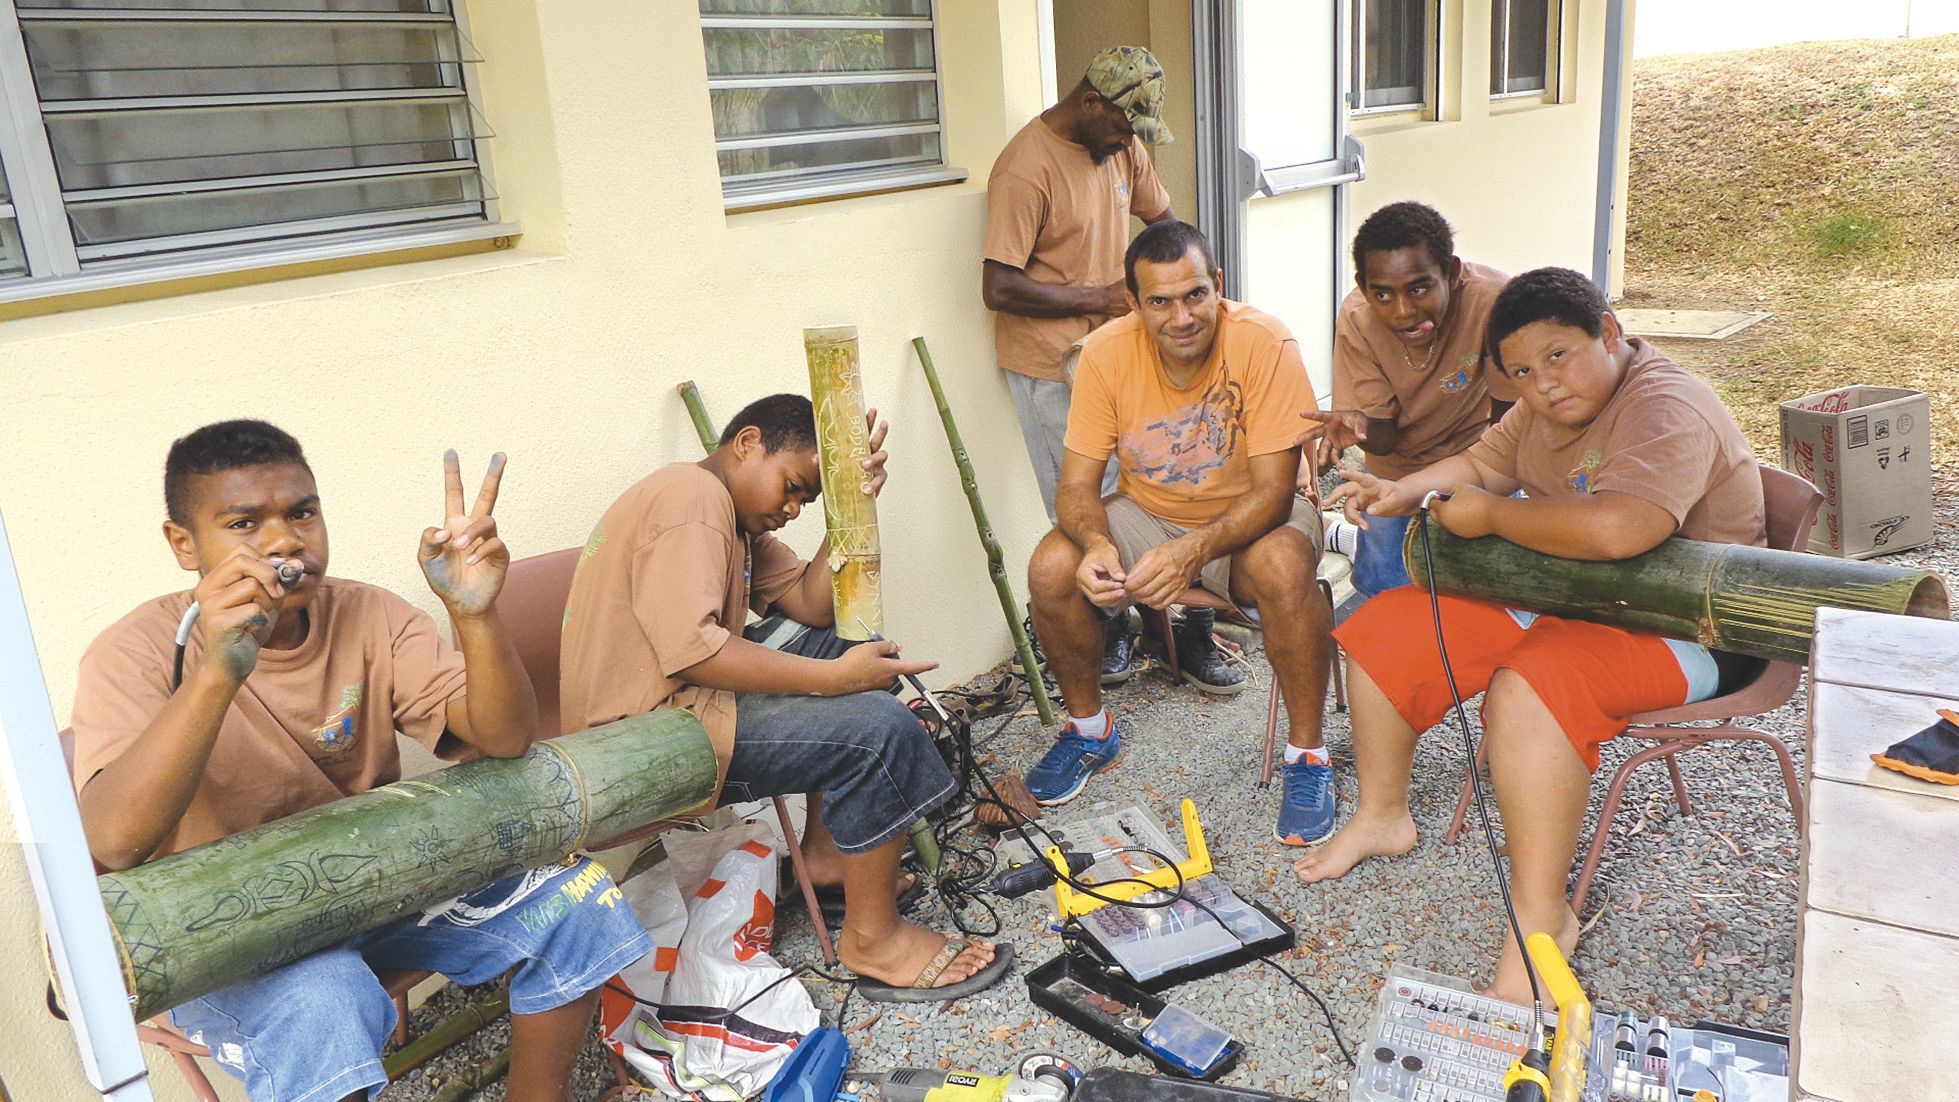
POLYGON ((496 221, 451 0, 16 0, 0 20, 0 278, 496 221))

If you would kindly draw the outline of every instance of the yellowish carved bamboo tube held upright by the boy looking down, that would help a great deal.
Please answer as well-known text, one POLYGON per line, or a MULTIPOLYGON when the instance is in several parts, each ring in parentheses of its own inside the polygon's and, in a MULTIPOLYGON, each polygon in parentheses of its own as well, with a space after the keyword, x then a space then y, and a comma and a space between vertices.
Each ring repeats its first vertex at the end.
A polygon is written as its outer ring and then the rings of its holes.
POLYGON ((868 640, 884 634, 878 499, 864 493, 870 429, 864 425, 864 374, 856 325, 803 329, 809 399, 817 407, 817 458, 823 466, 823 523, 831 536, 831 599, 836 634, 868 640))

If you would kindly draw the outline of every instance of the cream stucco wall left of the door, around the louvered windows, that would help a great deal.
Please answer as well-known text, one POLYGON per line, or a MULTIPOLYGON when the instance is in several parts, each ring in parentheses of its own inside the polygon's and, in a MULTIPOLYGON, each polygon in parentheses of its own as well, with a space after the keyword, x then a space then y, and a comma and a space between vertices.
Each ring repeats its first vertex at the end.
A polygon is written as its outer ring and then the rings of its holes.
MULTIPOLYGON (((86 642, 186 583, 159 536, 159 474, 188 429, 241 415, 290 429, 325 497, 331 570, 433 611, 411 546, 437 517, 443 448, 476 470, 509 452, 498 517, 517 554, 572 546, 633 480, 699 456, 676 382, 695 380, 717 419, 805 391, 801 329, 827 323, 860 327, 868 397, 893 423, 889 634, 940 660, 938 683, 1007 652, 909 341, 931 341, 993 525, 1025 562, 1046 523, 1003 415, 978 256, 993 153, 1040 110, 1034 4, 942 6, 950 159, 970 182, 733 217, 693 8, 474 6, 498 190, 525 225, 515 249, 253 276, 0 325, 0 509, 57 716, 86 642)), ((791 532, 803 550, 821 536, 815 517, 791 532)), ((12 977, 0 1075, 16 1098, 82 1098, 72 1039, 39 1008, 12 820, 0 830, 0 914, 16 916, 0 934, 12 977)), ((184 1096, 168 1071, 155 1082, 184 1096)))

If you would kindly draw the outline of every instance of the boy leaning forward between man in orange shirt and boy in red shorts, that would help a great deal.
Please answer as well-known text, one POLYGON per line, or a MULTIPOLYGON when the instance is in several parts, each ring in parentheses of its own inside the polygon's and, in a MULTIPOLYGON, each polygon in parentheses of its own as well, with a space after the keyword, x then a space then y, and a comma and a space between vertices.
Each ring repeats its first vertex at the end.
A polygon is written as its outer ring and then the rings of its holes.
MULTIPOLYGON (((1354 290, 1334 321, 1334 407, 1305 411, 1318 438, 1316 472, 1360 444, 1367 474, 1403 478, 1459 454, 1516 401, 1489 366, 1483 327, 1508 276, 1456 256, 1450 223, 1401 202, 1354 233, 1354 290)), ((1328 525, 1328 546, 1354 558, 1354 589, 1373 597, 1409 583, 1401 566, 1407 517, 1328 525), (1358 546, 1356 546, 1358 544, 1358 546)))

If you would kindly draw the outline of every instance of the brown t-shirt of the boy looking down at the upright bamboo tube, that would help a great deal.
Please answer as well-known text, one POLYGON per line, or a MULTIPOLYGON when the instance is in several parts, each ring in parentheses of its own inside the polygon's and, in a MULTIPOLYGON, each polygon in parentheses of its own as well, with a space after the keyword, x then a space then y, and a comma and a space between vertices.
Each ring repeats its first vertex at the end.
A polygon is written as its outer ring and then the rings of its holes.
POLYGON ((766 613, 801 585, 807 568, 776 536, 744 538, 727 485, 699 464, 670 464, 639 480, 592 530, 564 605, 564 728, 688 709, 713 738, 727 777, 735 693, 676 673, 717 654, 750 611, 766 613))

